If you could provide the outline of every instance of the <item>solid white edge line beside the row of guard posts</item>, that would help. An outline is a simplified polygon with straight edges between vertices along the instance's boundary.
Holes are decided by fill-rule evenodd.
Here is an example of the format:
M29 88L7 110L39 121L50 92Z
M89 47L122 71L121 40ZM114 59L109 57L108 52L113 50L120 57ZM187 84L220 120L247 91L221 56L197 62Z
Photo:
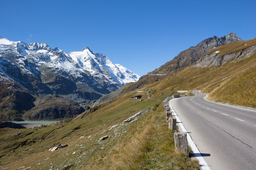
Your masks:
M172 110L172 112L175 113L174 116L175 116L177 122L181 122L179 116L177 116L177 113L174 111L174 109L171 106L171 100L169 100L169 102L168 102L169 103L169 107ZM183 132L186 132L186 133L188 132L185 129L185 127L183 126L182 123L179 123L179 126L180 126L180 128L182 129ZM187 139L188 139L188 144L191 147L192 151L194 153L199 153L199 156L196 156L196 159L199 160L199 164L201 165L201 169L202 170L210 170L210 167L208 166L207 162L205 162L205 160L204 160L203 156L201 155L199 149L196 147L195 143L193 142L191 136L188 133L187 133Z

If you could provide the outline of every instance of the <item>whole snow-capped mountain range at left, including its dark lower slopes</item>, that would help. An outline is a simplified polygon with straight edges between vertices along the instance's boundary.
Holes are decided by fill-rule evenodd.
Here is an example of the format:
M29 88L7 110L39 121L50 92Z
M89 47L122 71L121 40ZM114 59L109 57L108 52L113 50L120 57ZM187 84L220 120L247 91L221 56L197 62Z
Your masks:
M67 54L44 43L0 37L1 113L24 113L35 106L35 100L47 95L86 104L138 78L88 46Z

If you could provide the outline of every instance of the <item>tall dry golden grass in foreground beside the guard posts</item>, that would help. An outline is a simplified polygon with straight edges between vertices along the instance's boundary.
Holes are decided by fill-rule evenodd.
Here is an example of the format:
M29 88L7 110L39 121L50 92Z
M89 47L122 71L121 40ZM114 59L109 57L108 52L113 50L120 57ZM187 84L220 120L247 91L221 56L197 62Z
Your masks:
M146 114L146 113L145 113ZM177 154L174 132L164 120L163 105L135 121L134 129L89 169L198 169L197 161Z

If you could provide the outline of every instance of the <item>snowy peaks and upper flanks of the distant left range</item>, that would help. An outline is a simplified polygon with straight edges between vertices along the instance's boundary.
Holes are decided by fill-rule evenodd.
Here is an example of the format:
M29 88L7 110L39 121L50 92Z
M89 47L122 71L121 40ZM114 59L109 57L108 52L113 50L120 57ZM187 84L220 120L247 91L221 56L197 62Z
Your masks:
M66 79L79 82L88 82L85 79L88 79L89 76L93 79L89 81L89 86L105 88L109 92L139 79L139 75L133 73L133 71L121 65L115 65L104 54L95 54L88 46L80 52L67 54L59 48L52 49L45 43L27 44L22 41L9 41L1 37L0 59L7 59L9 55L6 54L10 52L13 53L13 56L17 56L13 57L11 61L17 64L16 66L24 73L45 76L46 73L44 72L47 70L59 70L54 74L60 74ZM52 76L51 74L49 76ZM48 81L47 77L44 77L44 79Z

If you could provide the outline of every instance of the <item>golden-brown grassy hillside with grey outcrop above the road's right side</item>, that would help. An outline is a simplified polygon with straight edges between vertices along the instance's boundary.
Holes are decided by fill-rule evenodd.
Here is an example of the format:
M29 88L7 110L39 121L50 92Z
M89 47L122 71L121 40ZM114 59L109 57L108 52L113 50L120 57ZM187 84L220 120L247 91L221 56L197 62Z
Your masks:
M223 51L224 56L220 56ZM256 108L255 68L256 39L233 42L217 47L186 69L141 89L157 90L150 93L152 97L177 90L201 90L210 100Z

